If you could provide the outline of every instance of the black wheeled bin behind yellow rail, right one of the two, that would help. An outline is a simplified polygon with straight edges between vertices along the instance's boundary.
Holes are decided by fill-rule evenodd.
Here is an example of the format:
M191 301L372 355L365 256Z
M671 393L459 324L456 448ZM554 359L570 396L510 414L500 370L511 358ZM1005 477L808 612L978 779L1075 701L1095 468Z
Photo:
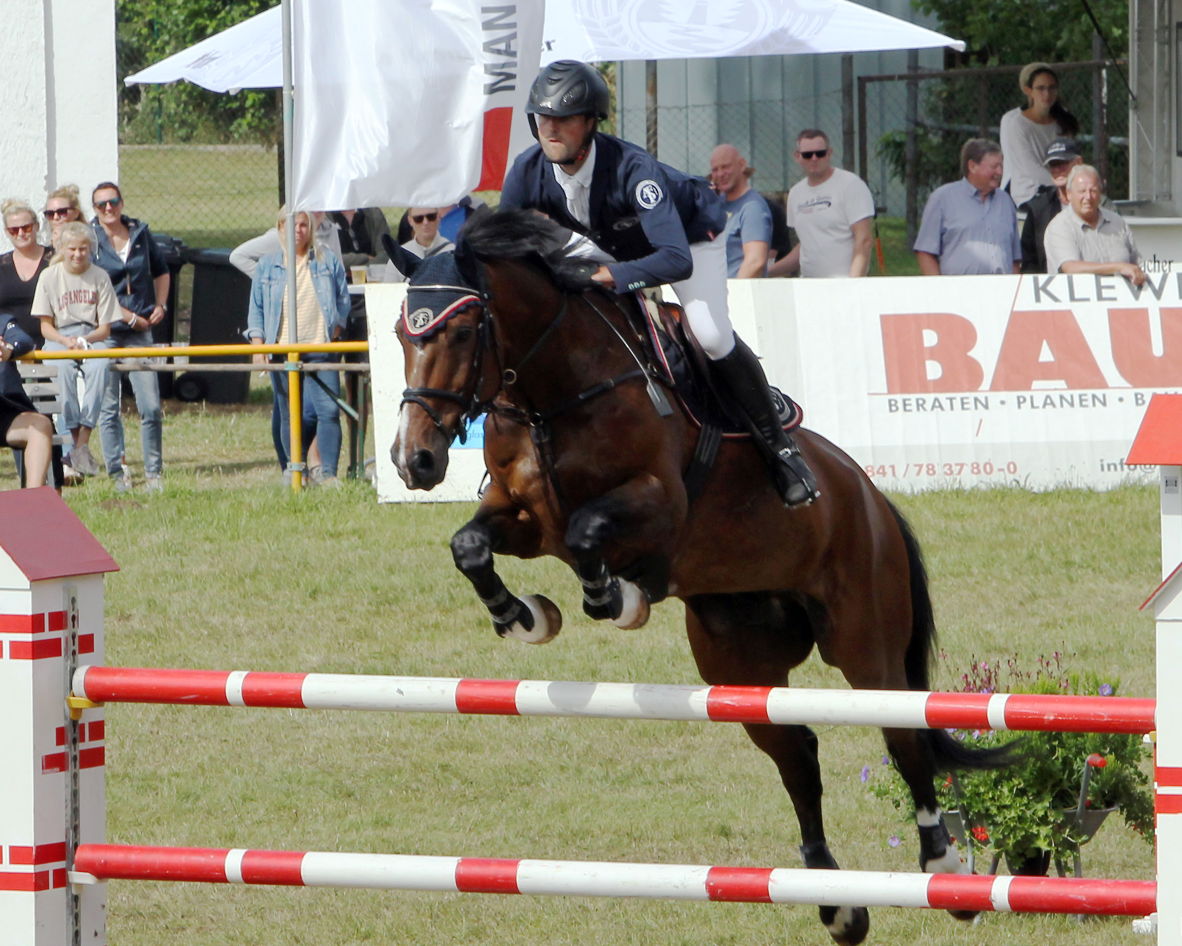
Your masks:
M189 322L190 345L245 344L246 311L251 302L251 278L229 261L229 250L187 250L193 264L193 311ZM189 358L189 364L249 362L245 355ZM174 393L182 401L209 401L214 404L241 404L251 389L249 371L186 371L178 375Z

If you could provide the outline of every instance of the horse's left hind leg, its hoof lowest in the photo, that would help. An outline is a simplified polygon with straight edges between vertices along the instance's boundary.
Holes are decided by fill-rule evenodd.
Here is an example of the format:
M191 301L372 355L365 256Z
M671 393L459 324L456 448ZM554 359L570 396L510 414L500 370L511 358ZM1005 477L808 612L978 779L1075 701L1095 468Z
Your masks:
M812 649L808 616L784 595L702 595L690 598L686 627L702 679L708 683L787 686L788 670ZM837 870L821 817L817 736L807 726L745 725L751 740L780 773L800 824L805 867ZM842 946L866 938L865 907L819 908L820 921Z

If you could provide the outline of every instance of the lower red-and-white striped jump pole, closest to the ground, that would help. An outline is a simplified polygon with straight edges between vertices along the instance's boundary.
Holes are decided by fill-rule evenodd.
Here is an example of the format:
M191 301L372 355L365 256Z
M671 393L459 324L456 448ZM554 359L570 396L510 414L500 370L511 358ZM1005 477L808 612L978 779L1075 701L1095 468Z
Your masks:
M1152 881L83 844L76 880L1142 916ZM84 876L89 875L89 876Z

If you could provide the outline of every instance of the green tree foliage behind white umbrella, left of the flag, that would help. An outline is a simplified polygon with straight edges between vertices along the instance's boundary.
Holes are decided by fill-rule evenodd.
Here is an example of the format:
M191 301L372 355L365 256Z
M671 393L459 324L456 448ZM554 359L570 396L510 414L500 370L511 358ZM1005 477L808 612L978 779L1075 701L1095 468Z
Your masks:
M125 76L274 5L275 0L117 0L121 141L274 144L279 108L271 89L220 95L187 82L123 85Z

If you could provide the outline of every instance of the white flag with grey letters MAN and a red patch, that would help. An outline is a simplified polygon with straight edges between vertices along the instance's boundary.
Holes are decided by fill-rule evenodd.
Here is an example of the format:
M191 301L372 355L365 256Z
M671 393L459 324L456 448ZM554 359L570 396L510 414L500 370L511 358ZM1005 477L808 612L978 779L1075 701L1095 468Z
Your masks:
M436 207L499 186L541 19L541 0L297 0L296 207Z

